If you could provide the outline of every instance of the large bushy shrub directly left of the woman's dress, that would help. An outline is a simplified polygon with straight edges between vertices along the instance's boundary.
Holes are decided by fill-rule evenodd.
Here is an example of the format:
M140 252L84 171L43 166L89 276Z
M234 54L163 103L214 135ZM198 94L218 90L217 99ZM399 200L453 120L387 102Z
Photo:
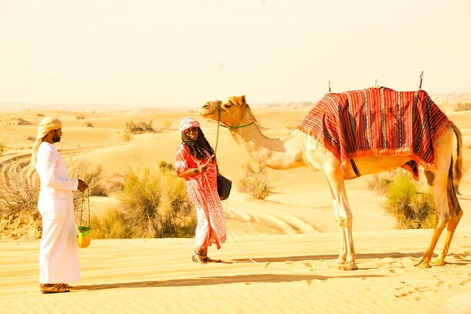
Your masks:
M175 171L163 167L127 173L118 198L132 237L193 237L196 215Z

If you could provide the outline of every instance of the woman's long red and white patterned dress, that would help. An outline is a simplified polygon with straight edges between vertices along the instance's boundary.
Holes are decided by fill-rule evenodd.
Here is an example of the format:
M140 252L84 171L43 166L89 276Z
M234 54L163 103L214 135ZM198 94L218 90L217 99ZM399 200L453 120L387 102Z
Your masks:
M206 161L190 155L188 147L184 144L177 150L175 168L179 173L205 163ZM226 241L226 218L218 195L217 175L216 164L210 161L205 172L184 178L188 198L196 207L198 217L195 234L197 247L206 248L215 243L220 249Z

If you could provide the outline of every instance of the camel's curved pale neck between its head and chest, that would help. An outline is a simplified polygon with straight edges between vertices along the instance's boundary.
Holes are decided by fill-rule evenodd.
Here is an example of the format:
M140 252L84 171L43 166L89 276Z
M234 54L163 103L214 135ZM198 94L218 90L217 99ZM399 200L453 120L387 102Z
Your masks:
M232 137L261 165L273 169L289 169L304 165L302 142L306 137L302 137L301 133L294 131L278 139L265 137L249 107L246 108L240 125L246 126L230 128Z

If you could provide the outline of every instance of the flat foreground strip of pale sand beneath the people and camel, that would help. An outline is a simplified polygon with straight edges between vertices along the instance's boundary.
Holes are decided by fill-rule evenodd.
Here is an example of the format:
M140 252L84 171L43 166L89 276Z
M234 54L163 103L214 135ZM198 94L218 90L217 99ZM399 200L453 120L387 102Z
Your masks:
M354 272L332 264L337 232L229 237L210 249L224 263L208 265L191 262L192 239L92 240L82 280L61 295L39 293L38 241L6 241L0 303L2 313L470 313L471 227L458 227L445 266L415 268L431 232L356 232Z

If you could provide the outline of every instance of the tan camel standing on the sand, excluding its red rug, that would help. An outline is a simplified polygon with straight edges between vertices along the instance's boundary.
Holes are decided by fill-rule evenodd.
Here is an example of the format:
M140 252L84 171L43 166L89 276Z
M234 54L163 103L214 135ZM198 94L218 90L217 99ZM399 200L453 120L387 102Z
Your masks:
M326 96L329 95L331 94ZM317 106L319 104L315 107ZM360 154L352 158L353 162L342 164L339 156L332 153L320 137L316 134L307 134L300 128L283 137L270 139L261 132L260 125L246 103L245 96L230 96L226 101L208 101L199 110L199 115L202 118L218 121L220 125L227 127L237 144L261 165L278 170L306 166L310 170L324 172L332 194L335 220L339 227L341 246L339 257L334 262L339 264L340 270L358 268L352 237L353 216L348 205L344 180L354 179L358 175L394 170L417 159L413 153L401 154L399 152L391 156L361 156ZM432 239L422 260L416 265L420 268L445 264L444 260L451 239L463 215L456 196L462 176L462 139L458 127L448 118L446 120L448 124L432 143L433 162L420 167L427 178L427 183L432 186L436 208ZM455 182L453 182L453 132L457 139ZM432 260L435 246L445 227L447 230L443 249L439 256Z

